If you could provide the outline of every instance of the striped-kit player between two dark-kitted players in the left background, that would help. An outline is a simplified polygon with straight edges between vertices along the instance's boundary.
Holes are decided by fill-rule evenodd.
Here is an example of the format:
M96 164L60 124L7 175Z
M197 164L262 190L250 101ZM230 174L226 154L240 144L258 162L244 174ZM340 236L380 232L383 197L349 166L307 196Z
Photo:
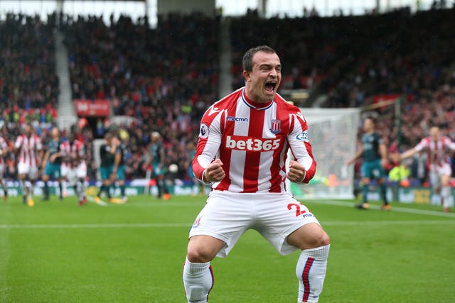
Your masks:
M87 177L87 165L85 164L84 143L75 139L72 131L68 136L68 141L60 144L60 154L62 157L62 177L70 186L73 186L79 200L79 205L87 204L85 196L85 177Z

